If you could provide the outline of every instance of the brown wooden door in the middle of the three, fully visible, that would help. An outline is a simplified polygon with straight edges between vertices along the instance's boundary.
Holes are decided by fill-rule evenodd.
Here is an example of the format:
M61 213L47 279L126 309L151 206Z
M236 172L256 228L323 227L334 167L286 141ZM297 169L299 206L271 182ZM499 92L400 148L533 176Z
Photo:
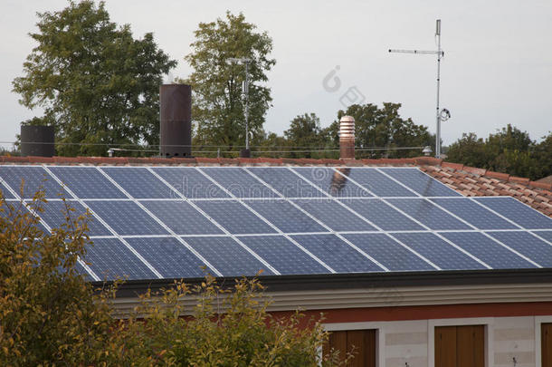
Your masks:
M435 327L435 367L484 367L485 326Z

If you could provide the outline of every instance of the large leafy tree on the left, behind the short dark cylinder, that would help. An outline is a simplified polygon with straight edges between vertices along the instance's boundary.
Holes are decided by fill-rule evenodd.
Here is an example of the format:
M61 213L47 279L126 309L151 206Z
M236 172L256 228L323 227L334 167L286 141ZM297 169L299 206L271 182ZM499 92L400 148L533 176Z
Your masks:
M110 22L104 3L92 0L37 15L39 31L30 36L38 45L13 85L25 107L44 114L24 123L53 125L60 155L157 144L159 84L176 61L153 34L134 39L128 24Z

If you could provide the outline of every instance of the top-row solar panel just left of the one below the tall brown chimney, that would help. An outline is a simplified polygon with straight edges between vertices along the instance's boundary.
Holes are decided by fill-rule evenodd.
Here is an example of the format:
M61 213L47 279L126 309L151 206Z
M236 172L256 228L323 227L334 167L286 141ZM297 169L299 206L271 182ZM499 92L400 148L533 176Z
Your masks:
M134 198L179 198L178 194L144 167L102 168Z

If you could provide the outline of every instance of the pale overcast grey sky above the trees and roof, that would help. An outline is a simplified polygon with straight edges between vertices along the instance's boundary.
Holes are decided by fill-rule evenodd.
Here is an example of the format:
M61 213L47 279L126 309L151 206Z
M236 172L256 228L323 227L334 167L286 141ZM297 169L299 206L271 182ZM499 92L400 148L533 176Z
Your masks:
M18 103L12 81L34 43L36 12L61 10L64 0L0 3L0 141L15 140L21 121L40 116ZM153 32L158 46L184 61L200 22L243 12L273 40L277 63L268 72L273 106L265 130L282 133L299 114L320 125L354 102L400 102L402 117L435 130L437 62L434 55L388 53L389 48L435 50L435 20L442 19L441 107L444 145L475 132L486 137L506 124L539 140L552 130L552 2L490 1L146 1L108 0L117 24L135 37Z

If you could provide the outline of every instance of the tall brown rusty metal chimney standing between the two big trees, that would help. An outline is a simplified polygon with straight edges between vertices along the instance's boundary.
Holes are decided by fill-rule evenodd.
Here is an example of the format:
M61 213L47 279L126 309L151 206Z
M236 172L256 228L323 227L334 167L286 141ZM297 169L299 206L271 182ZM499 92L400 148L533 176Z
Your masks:
M163 157L192 156L192 87L163 84L159 87L160 153Z

